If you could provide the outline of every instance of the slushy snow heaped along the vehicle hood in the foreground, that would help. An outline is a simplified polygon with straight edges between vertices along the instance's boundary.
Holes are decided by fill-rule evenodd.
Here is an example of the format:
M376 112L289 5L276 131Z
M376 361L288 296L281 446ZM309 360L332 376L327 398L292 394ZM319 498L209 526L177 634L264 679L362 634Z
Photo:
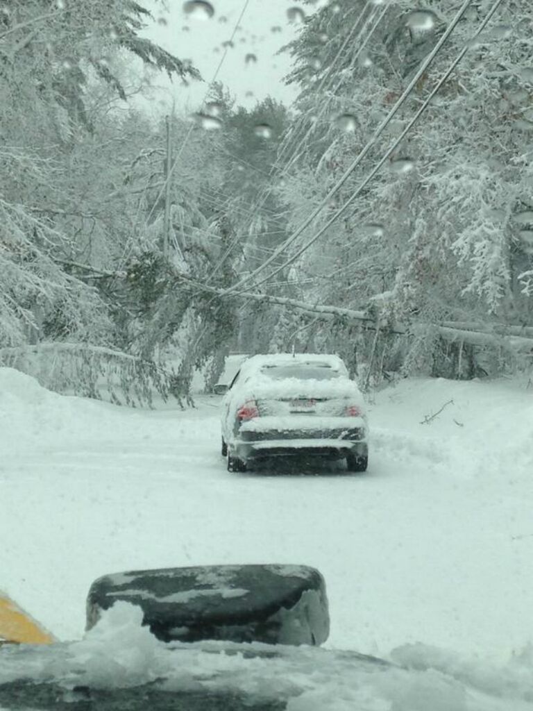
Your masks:
M288 711L533 710L531 651L503 668L421 645L394 663L355 652L222 642L162 643L120 602L75 643L0 650L0 684L25 678L66 688L159 683L168 693L245 693Z

